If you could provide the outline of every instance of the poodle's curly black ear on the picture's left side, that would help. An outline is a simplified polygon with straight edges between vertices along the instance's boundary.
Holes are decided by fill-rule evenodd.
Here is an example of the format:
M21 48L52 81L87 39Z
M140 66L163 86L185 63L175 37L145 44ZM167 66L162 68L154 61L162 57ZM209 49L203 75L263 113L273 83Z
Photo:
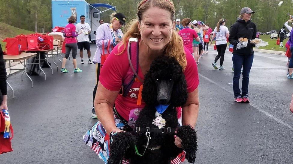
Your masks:
M146 104L156 105L157 102L157 86L151 72L146 73L143 82L142 98Z

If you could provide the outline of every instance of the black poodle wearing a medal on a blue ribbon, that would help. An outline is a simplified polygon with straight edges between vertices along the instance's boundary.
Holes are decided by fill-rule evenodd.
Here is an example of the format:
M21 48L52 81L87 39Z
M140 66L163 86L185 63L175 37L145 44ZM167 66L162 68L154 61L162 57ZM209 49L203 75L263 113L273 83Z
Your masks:
M119 164L122 158L129 159L131 164L170 164L183 150L188 162L194 163L196 131L190 125L178 128L176 111L176 107L186 103L187 96L186 80L179 63L166 56L157 57L144 78L142 98L146 106L140 111L136 128L112 137L108 164ZM169 106L160 115L156 108L165 105ZM175 131L183 149L174 144Z

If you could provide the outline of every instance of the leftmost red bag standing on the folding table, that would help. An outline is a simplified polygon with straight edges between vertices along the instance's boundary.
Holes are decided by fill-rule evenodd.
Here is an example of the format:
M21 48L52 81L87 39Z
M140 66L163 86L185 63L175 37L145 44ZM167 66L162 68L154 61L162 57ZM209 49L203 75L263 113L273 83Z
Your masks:
M17 38L6 38L3 42L6 42L5 49L7 55L19 55L21 45L18 42Z

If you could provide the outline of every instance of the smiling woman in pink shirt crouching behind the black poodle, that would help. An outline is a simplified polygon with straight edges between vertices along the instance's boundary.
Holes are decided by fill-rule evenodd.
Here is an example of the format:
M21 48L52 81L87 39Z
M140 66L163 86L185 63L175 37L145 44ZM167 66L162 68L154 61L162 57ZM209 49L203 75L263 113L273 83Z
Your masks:
M178 123L181 125L181 112L182 124L190 125L192 128L195 127L198 117L198 70L192 54L183 47L181 37L174 30L173 2L143 0L138 5L137 18L126 25L127 32L122 42L114 47L101 69L94 103L99 121L83 137L105 163L109 158L111 137L118 132L132 131L135 128L136 120L131 116L134 115L134 111L145 107L145 102L141 99L143 79L156 57L167 56L175 59L182 67L189 93L186 104L182 108L177 108ZM133 71L128 62L127 47L130 38L137 38L138 41L132 42L129 49L131 56L135 54L137 57L136 60L131 60L136 62L133 66L137 68L138 77L132 76ZM127 90L121 90L126 86L125 79L128 76L133 77L130 77L132 81L128 83ZM101 137L96 134L100 134ZM180 148L180 138L174 136L173 139L174 144ZM174 160L172 163L184 161L184 153Z

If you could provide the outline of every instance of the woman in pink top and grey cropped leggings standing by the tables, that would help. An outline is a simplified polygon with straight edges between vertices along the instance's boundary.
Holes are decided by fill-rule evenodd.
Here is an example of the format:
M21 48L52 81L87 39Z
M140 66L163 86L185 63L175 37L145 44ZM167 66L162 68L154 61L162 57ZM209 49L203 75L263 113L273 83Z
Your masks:
M63 35L65 35L65 48L66 48L66 53L62 61L62 68L61 72L67 73L68 70L65 68L66 61L69 57L70 51L72 51L72 62L74 66L73 72L82 72L81 69L77 68L76 65L76 54L77 54L77 40L75 37L77 37L79 34L82 33L80 31L79 33L76 33L74 23L76 22L76 18L74 16L70 16L68 19L68 24L65 26Z

